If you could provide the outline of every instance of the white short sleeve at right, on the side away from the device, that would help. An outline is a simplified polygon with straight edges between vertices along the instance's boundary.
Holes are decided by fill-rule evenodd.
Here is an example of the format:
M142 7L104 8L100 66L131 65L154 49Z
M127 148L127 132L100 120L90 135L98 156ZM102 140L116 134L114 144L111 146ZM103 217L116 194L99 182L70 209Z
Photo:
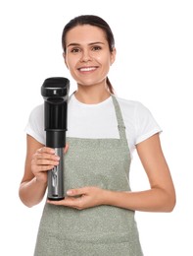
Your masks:
M138 102L135 111L135 145L150 138L156 133L161 133L162 129L153 117L150 110L142 103Z

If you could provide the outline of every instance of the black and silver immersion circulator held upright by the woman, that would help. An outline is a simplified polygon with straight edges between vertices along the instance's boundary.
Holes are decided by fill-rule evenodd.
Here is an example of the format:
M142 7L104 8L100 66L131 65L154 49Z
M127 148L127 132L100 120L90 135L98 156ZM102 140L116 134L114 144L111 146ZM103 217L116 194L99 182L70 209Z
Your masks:
M44 98L44 128L46 147L55 149L60 157L59 165L48 171L48 199L65 198L64 188L64 147L66 146L67 110L70 81L53 77L44 81L41 95Z

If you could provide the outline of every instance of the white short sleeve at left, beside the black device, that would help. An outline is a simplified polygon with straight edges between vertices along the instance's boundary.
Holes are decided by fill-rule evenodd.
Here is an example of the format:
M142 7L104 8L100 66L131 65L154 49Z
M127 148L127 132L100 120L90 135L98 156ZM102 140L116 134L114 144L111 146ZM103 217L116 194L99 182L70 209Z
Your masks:
M24 131L39 143L45 145L43 104L36 106L30 112Z

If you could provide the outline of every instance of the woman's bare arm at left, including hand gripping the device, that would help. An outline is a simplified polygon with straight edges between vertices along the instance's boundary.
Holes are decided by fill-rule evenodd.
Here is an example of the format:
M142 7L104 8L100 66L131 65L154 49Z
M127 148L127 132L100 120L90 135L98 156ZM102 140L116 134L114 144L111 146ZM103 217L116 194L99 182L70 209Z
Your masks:
M47 170L58 162L54 150L44 147L31 136L26 136L24 177L19 189L24 205L32 207L41 202L47 188Z

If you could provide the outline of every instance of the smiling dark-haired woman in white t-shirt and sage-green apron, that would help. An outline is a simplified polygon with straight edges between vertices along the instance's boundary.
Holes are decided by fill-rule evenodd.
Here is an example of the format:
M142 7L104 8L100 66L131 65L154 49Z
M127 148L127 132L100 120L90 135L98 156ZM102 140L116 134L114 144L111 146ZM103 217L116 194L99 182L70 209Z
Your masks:
M47 201L34 255L143 255L135 211L171 212L175 192L162 152L160 127L140 102L114 95L108 72L116 59L114 35L97 16L79 16L64 29L65 63L77 83L69 100L65 149L66 198ZM44 197L47 171L59 164L44 147L43 105L30 114L20 197L32 207ZM150 189L131 192L136 149ZM81 211L79 211L81 210Z

